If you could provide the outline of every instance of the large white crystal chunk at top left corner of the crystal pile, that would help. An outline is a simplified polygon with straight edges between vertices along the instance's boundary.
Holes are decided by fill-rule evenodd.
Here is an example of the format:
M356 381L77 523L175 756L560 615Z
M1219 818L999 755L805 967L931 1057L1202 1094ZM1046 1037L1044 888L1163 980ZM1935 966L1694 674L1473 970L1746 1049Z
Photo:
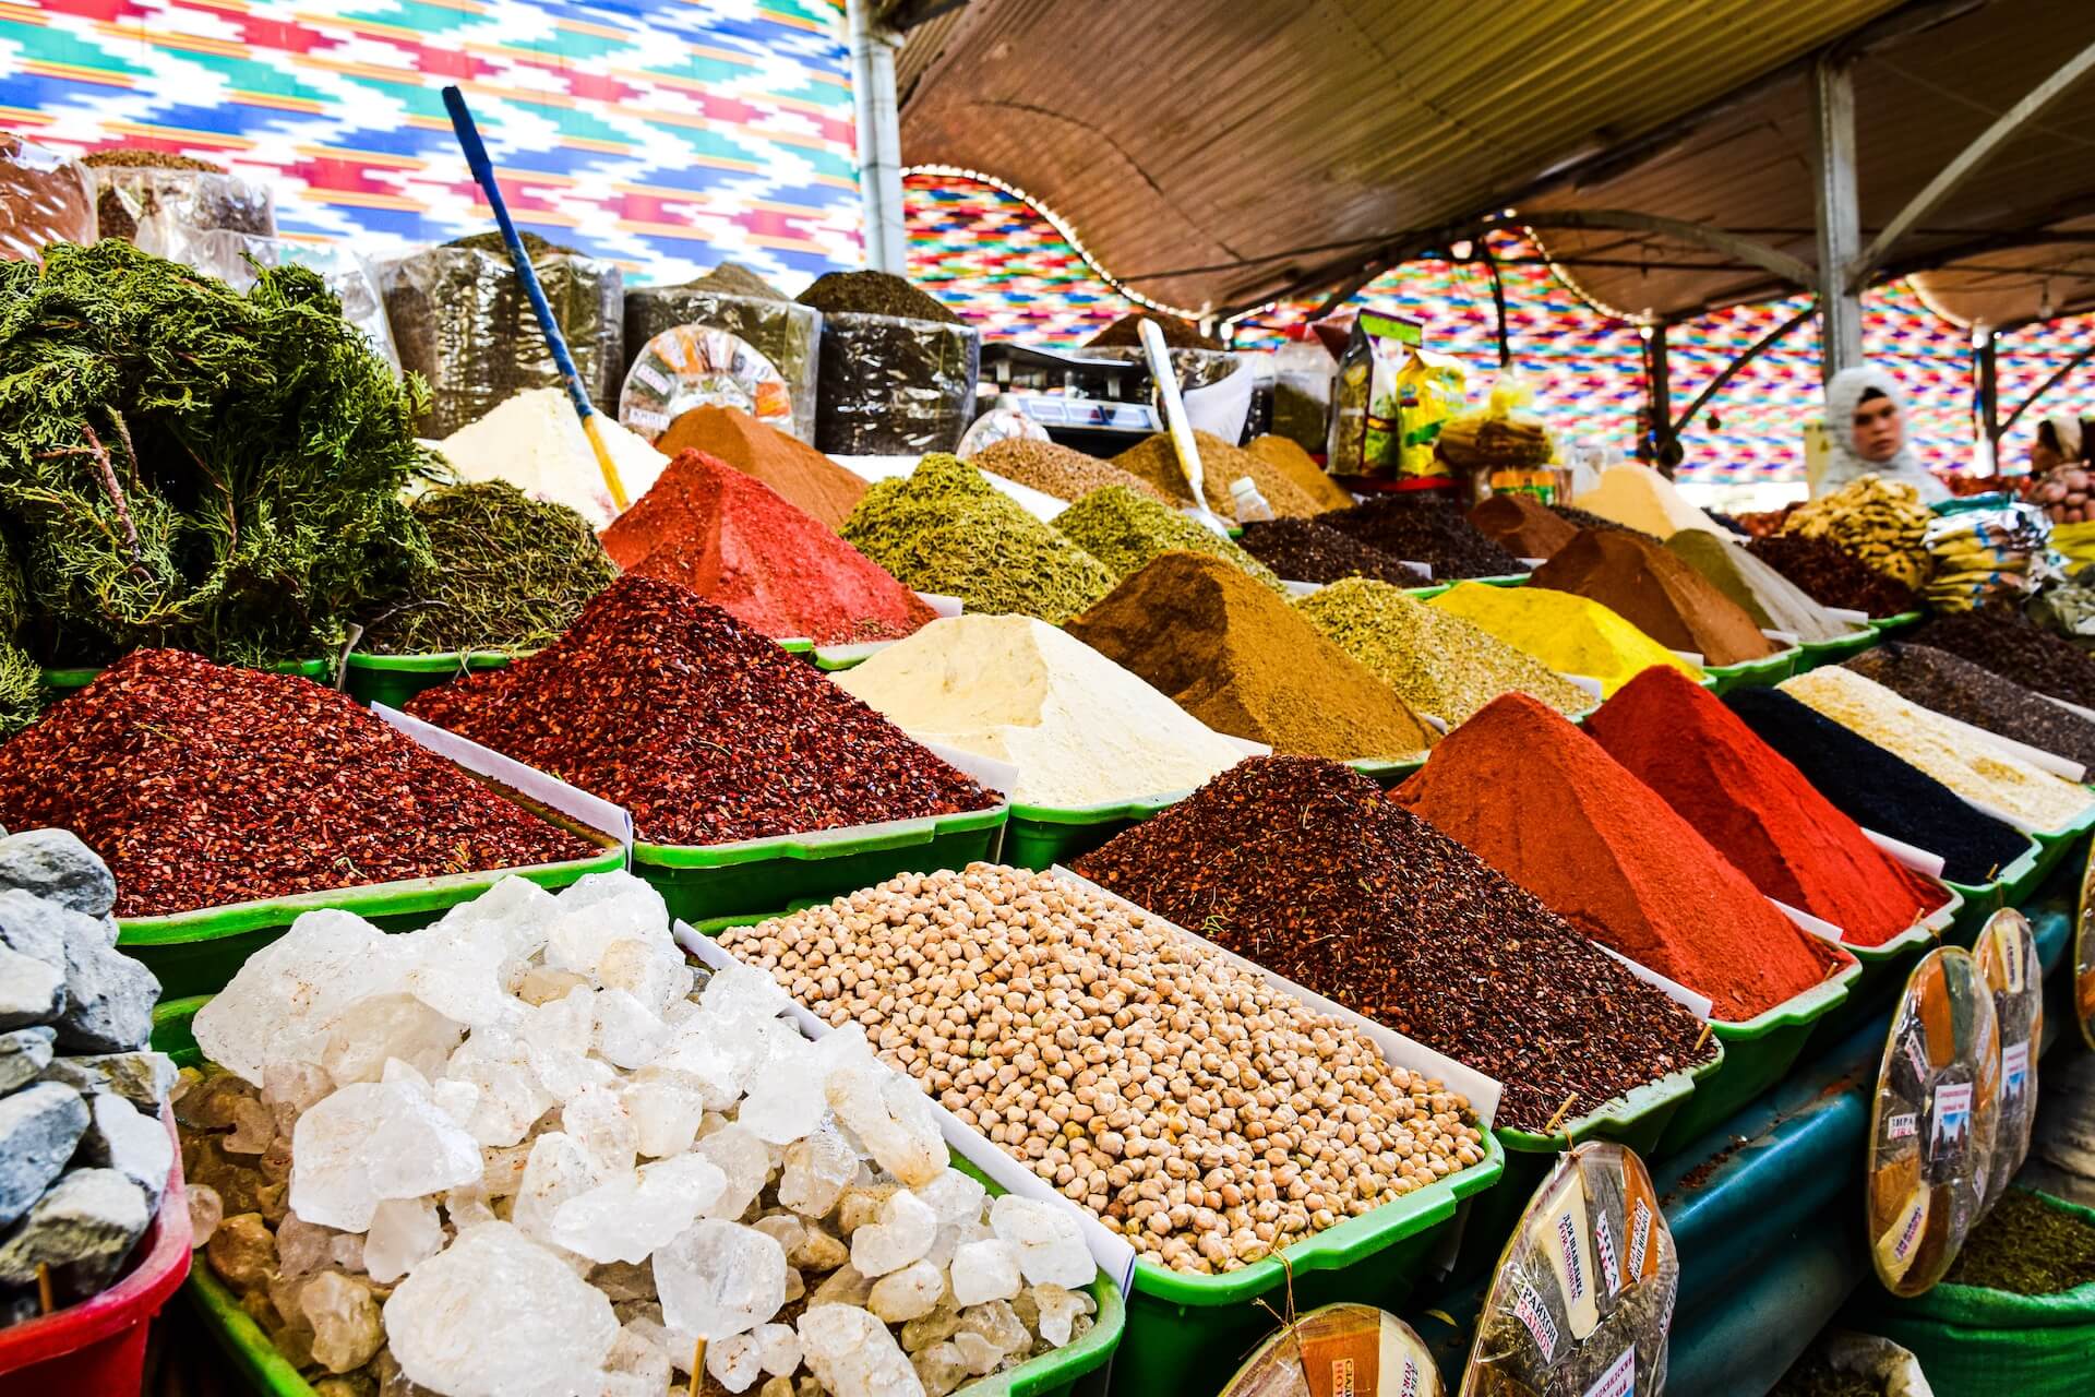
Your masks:
M406 976L392 943L358 915L304 913L197 1010L197 1047L247 1081L262 1081L272 1062L318 1062L335 1014Z

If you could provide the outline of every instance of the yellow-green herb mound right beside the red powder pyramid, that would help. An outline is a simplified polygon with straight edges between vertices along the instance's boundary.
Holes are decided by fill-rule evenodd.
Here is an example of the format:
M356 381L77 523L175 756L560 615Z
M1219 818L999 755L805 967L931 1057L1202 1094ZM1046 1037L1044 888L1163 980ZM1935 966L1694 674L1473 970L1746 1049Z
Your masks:
M1115 580L1102 561L945 452L872 486L842 534L903 586L960 597L970 612L1062 624Z

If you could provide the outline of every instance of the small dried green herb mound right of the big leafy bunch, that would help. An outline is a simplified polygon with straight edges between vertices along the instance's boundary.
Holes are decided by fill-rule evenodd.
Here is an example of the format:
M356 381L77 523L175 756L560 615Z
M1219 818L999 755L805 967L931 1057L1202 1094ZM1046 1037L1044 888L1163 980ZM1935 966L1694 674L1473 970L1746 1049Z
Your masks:
M582 515L505 482L429 490L415 517L436 572L365 622L360 647L379 656L538 649L618 576Z

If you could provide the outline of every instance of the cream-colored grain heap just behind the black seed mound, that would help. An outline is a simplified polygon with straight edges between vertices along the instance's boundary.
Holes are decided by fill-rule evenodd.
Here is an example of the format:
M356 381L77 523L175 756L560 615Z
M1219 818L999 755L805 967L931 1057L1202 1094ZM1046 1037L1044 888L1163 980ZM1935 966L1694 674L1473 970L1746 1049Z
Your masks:
M1919 767L1965 800L2007 811L2036 829L2057 829L2095 804L2085 785L1984 748L1942 714L1837 664L1785 679L1781 691Z

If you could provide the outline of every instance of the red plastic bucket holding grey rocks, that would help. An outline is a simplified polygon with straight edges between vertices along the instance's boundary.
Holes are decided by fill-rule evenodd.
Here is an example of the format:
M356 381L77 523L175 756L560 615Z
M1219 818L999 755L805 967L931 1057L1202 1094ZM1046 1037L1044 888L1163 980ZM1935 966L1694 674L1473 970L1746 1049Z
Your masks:
M161 1121L174 1135L174 1116L161 1110ZM189 1276L180 1148L138 1250L130 1276L94 1299L0 1330L0 1397L136 1397L147 1328Z

